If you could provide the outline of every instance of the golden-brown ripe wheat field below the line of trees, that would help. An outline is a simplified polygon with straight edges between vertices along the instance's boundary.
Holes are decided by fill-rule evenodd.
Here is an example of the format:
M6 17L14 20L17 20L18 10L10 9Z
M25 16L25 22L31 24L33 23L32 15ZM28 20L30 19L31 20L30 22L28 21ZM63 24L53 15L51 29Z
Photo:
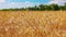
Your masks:
M0 11L0 37L66 37L66 11Z

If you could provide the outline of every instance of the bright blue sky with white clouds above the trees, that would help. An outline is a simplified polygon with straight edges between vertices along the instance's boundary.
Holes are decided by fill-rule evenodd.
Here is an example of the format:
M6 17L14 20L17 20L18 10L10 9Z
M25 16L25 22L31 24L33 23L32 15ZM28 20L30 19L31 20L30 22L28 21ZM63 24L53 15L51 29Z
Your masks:
M0 9L28 8L38 4L64 4L66 0L0 0Z

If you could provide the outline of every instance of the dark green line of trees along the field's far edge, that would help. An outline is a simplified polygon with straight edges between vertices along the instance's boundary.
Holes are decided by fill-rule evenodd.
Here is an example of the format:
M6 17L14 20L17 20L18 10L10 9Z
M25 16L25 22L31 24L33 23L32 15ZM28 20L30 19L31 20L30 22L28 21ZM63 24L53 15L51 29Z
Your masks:
M21 9L2 9L1 11L65 11L66 10L66 3L64 5L58 4L40 4L35 7L29 7L29 8L21 8Z

